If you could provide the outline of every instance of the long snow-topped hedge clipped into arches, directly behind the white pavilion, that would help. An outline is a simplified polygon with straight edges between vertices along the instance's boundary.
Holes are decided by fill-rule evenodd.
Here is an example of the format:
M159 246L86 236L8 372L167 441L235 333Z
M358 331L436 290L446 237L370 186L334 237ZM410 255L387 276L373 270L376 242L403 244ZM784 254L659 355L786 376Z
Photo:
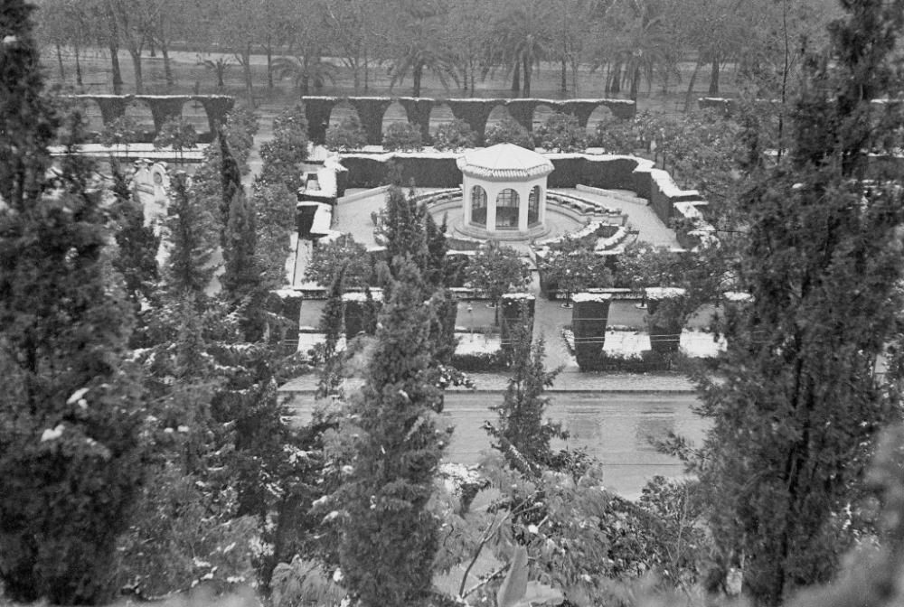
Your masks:
M593 111L605 106L613 116L630 119L637 112L636 103L626 99L431 99L413 97L313 97L305 96L301 100L305 104L308 124L308 137L311 141L322 144L325 141L326 128L329 126L333 108L343 104L350 105L361 118L361 124L367 132L367 143L380 145L382 139L383 117L386 109L394 101L405 108L410 123L420 127L420 133L427 141L429 138L430 112L434 107L446 105L453 116L464 120L481 138L486 131L486 120L497 106L502 106L511 117L518 121L528 133L533 132L533 115L537 107L551 107L554 112L573 114L578 118L581 128L587 128L587 122Z

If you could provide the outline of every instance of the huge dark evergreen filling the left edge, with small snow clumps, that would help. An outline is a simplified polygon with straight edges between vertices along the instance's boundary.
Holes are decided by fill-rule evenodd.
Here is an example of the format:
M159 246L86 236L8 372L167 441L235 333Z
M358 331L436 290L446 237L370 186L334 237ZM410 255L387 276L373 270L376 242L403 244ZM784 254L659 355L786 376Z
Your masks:
M145 398L108 210L82 163L45 178L56 118L30 11L0 6L0 580L14 601L91 604L111 597L143 481Z

